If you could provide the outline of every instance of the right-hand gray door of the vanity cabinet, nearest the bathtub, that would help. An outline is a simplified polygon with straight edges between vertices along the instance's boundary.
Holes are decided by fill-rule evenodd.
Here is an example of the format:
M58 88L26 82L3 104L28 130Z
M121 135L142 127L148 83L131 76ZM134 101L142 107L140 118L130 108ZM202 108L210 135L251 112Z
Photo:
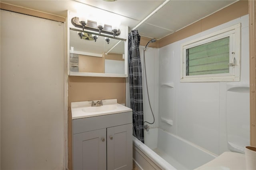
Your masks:
M108 170L132 170L132 124L107 128Z

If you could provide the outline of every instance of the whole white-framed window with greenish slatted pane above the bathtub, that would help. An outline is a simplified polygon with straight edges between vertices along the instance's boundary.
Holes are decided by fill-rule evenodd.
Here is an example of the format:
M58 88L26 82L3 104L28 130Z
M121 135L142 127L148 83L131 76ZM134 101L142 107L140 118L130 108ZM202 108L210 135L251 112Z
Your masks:
M180 82L240 80L240 24L182 44Z

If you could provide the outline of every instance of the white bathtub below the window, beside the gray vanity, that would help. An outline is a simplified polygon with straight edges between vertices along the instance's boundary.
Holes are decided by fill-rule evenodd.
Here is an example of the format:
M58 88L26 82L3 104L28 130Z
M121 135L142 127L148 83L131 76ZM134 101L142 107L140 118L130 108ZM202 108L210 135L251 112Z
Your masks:
M133 136L134 162L142 170L192 170L217 156L159 128L144 135L145 144Z

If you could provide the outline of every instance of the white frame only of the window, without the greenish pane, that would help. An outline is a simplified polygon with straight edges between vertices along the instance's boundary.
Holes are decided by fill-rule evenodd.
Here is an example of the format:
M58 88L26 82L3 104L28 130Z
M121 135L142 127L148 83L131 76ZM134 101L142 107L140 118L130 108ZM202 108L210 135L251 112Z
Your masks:
M240 31L241 24L224 28L206 36L188 41L181 45L180 57L180 82L235 82L240 81ZM229 63L235 60L233 66L229 66L229 73L186 75L186 50L195 46L230 37ZM233 52L233 53L232 53Z

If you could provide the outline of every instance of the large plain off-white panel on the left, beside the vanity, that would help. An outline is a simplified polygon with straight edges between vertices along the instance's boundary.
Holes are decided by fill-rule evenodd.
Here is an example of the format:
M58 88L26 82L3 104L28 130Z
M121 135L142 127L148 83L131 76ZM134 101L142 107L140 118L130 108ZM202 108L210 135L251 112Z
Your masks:
M64 169L64 24L1 10L1 169Z

